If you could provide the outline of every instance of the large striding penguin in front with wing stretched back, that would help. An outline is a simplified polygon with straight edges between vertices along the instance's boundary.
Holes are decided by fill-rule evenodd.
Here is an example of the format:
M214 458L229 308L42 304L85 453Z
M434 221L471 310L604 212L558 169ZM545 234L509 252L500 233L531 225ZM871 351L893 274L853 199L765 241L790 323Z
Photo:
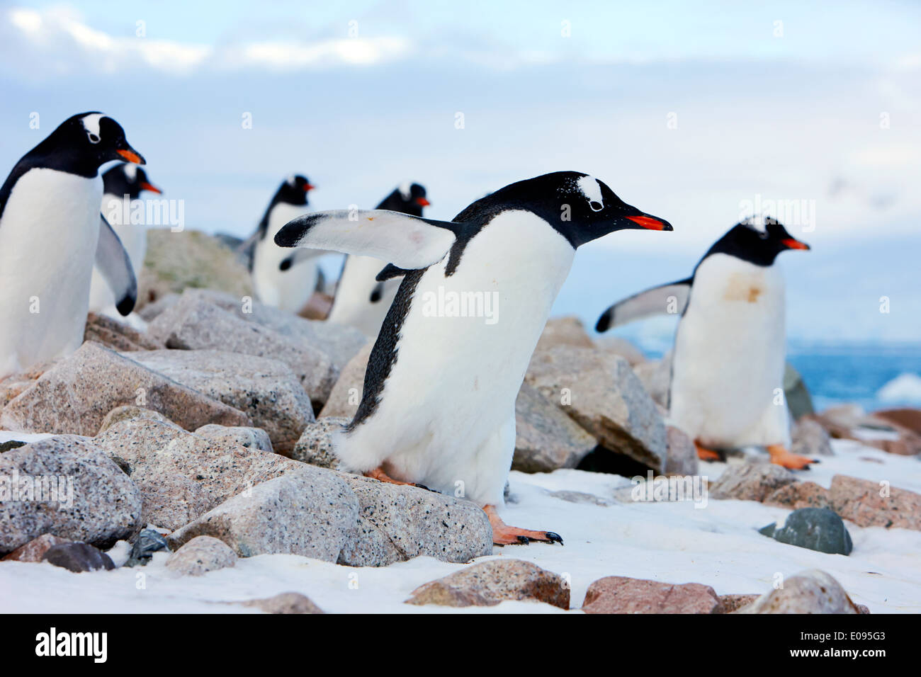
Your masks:
M391 262L379 278L402 275L356 416L335 440L344 469L466 496L484 508L497 544L562 542L496 512L515 399L576 248L623 228L671 230L575 171L507 185L453 221L341 210L282 228L282 247L372 256Z

